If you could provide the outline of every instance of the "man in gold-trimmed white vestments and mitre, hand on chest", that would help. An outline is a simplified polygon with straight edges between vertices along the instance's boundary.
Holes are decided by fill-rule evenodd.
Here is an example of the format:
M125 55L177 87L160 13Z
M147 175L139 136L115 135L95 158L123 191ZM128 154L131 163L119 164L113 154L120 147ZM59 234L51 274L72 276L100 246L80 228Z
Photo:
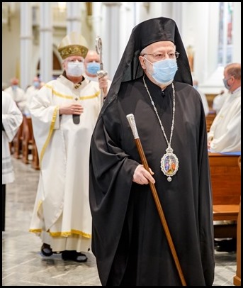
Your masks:
M30 115L40 159L40 181L30 232L40 236L43 255L86 262L91 250L89 147L101 110L97 82L84 79L88 45L67 35L58 50L64 73L33 95Z

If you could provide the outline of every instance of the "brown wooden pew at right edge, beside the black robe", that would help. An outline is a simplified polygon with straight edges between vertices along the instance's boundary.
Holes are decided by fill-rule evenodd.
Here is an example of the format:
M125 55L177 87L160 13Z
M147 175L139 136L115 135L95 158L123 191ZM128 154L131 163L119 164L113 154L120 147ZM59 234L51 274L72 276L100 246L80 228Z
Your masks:
M237 221L241 192L239 155L208 153L213 192L213 220ZM214 225L215 238L235 238L236 225Z

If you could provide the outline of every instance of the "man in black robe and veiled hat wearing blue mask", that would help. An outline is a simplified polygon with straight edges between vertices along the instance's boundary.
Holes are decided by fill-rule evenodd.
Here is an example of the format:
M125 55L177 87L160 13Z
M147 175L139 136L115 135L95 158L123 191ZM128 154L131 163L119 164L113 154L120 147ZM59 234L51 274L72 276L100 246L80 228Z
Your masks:
M129 114L150 170L140 159ZM187 286L213 284L205 113L170 18L149 19L132 30L91 138L89 184L92 251L103 286L185 286L183 278Z

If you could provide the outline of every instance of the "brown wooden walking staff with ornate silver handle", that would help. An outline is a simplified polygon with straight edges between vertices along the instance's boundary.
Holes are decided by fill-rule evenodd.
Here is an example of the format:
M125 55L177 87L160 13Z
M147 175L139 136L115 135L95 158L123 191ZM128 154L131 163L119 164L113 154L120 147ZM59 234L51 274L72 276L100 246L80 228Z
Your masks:
M132 134L133 134L133 136L135 138L135 143L137 145L137 150L138 150L138 152L140 154L140 158L142 160L142 165L150 173L149 165L147 164L147 159L145 157L145 152L142 149L142 144L141 144L140 138L139 138L138 133L137 133L137 127L136 127L134 115L133 114L128 114L127 115L127 119L128 119L128 123L130 124L130 128L132 129ZM154 184L152 182L149 182L149 186L150 186L150 189L152 190L152 194L154 196L154 201L155 201L155 204L157 206L157 210L159 212L159 218L162 221L162 226L164 228L164 233L165 233L166 238L167 238L168 243L169 243L169 248L171 249L171 253L173 255L174 262L176 264L176 268L177 268L177 270L179 272L179 277L181 279L181 284L182 284L182 286L186 286L186 281L185 281L185 278L183 276L183 272L181 270L180 262L178 260L177 255L176 255L176 250L174 248L174 243L172 241L171 234L169 232L169 228L168 228L168 225L166 223L166 218L164 216L164 211L162 210L162 206L161 206L160 201L159 201L159 196L157 194L157 190L156 190L156 188L155 188L155 186L154 186Z

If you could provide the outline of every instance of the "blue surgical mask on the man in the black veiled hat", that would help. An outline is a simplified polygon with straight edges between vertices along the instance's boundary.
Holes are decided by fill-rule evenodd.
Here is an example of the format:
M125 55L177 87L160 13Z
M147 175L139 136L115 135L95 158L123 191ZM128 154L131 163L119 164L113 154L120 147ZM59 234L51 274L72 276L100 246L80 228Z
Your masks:
M146 59L146 58L145 58ZM147 59L146 59L147 60ZM159 84L171 84L178 70L176 59L166 59L157 62L150 62L153 65L151 76Z

